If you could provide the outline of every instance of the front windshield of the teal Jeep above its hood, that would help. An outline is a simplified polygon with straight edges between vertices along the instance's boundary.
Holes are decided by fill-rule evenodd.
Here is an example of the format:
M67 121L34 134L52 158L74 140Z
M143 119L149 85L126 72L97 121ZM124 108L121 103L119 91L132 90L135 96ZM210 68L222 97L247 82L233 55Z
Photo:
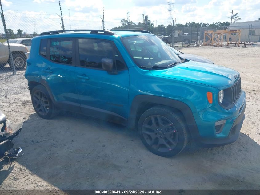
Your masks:
M131 36L122 38L122 42L138 67L167 67L181 62L158 36Z

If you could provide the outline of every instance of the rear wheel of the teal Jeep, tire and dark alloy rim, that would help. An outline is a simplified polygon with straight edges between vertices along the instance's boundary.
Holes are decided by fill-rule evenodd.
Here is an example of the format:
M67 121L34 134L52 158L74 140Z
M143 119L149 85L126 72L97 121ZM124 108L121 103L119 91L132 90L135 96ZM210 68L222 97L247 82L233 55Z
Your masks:
M53 104L46 88L36 85L31 93L32 104L35 112L43 119L51 119L57 115L57 108Z

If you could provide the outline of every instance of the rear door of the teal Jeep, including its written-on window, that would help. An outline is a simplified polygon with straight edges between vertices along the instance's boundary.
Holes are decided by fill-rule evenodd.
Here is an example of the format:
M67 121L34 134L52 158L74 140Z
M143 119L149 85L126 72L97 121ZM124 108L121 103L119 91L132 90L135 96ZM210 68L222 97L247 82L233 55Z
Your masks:
M43 57L41 79L44 79L43 83L60 107L79 112L73 49L75 39L58 38L42 39L41 41L40 48L43 51L40 53ZM44 52L44 48L47 48L46 52Z

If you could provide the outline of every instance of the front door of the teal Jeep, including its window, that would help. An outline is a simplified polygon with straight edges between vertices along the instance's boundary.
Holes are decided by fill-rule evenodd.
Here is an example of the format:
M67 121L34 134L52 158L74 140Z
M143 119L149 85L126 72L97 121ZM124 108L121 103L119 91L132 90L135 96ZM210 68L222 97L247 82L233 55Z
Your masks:
M114 43L78 39L75 81L81 110L87 115L121 123L128 113L129 74ZM114 61L114 72L102 68L102 58Z

